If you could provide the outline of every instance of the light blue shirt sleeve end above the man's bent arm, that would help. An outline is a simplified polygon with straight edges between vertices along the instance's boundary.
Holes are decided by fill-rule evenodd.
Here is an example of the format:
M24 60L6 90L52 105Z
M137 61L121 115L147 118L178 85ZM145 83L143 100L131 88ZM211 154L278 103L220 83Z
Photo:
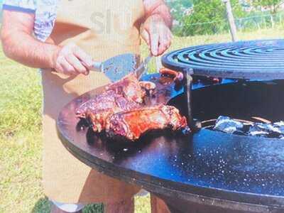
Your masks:
M36 0L4 0L3 10L35 13Z

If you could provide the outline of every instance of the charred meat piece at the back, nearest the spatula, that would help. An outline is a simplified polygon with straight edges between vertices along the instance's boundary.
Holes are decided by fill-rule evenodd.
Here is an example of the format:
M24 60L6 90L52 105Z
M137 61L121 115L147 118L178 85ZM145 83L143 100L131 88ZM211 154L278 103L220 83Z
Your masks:
M145 94L135 75L128 75L107 87L106 92L82 104L75 113L77 117L87 119L94 131L101 132L112 114L140 108Z

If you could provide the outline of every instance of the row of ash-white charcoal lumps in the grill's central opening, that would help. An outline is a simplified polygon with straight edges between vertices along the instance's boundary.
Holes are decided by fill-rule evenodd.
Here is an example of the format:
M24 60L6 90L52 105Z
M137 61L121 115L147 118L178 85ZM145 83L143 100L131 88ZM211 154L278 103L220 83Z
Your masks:
M284 139L284 121L273 124L245 123L236 121L228 116L219 116L213 128L216 131L243 136L259 136L266 138Z

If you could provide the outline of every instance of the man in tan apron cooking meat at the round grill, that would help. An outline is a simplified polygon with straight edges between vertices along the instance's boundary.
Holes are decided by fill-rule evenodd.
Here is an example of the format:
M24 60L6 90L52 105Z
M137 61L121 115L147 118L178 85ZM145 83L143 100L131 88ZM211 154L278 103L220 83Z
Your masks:
M6 0L3 9L4 53L41 68L43 187L52 212L76 212L96 202L103 202L106 212L133 212L139 189L75 159L62 146L55 120L67 102L109 82L89 72L92 62L138 54L140 35L153 55L163 54L172 38L168 7L163 0Z

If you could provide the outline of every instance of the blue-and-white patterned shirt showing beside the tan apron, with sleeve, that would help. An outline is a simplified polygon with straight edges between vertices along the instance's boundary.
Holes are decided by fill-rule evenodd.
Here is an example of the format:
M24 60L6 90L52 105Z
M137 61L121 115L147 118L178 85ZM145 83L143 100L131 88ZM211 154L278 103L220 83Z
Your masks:
M45 41L53 31L59 0L4 0L3 9L35 13L34 34Z

